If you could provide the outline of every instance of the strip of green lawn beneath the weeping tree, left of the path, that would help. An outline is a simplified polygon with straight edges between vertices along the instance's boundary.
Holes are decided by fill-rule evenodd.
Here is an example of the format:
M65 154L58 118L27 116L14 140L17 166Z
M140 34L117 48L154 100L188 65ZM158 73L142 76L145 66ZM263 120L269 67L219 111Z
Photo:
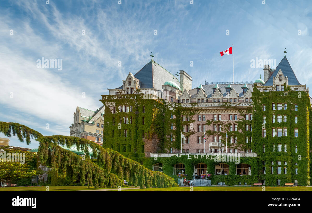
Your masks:
M50 186L50 191L75 191L75 190L92 190L92 189L95 188L93 186L90 188L88 188L88 186ZM0 187L0 191L46 191L46 186Z

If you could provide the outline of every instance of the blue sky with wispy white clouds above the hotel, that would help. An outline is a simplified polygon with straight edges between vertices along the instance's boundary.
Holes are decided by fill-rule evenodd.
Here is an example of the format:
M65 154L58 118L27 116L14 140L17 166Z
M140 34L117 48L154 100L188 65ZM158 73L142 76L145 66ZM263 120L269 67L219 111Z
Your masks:
M286 48L299 82L311 87L311 6L287 0L1 1L0 120L69 135L76 106L99 108L100 95L138 72L150 52L169 72L190 74L194 88L205 79L232 81L232 55L219 53L232 44L235 81L263 76L251 60L278 64ZM63 69L37 68L42 57L62 59ZM38 143L12 137L10 145Z

